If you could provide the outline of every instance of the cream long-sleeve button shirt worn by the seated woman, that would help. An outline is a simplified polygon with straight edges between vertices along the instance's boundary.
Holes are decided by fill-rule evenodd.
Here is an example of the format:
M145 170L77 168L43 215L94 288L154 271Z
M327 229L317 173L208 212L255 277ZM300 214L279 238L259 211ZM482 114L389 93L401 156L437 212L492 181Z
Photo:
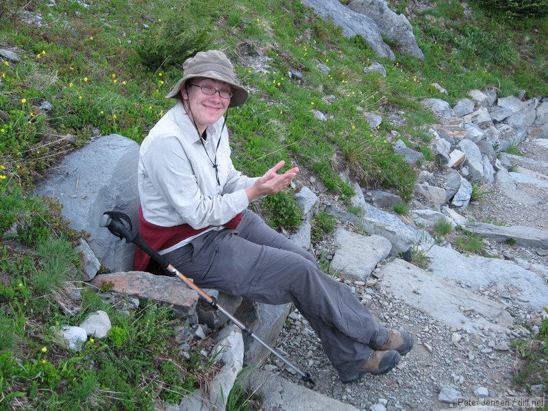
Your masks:
M203 145L207 154L181 101L151 129L142 141L138 163L138 188L145 220L162 227L212 226L207 232L223 229L223 223L249 206L245 188L252 186L258 177L250 178L234 169L226 127L221 133L223 121L221 117L206 129ZM220 185L212 161L218 166ZM182 247L192 238L161 253Z

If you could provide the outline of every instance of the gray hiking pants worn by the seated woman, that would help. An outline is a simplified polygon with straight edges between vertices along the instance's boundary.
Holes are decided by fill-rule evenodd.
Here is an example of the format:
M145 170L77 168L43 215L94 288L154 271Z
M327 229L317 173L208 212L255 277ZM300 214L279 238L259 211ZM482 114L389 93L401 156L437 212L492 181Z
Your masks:
M319 269L314 257L249 210L236 229L207 232L165 258L200 287L260 303L293 303L341 378L388 335L369 310Z

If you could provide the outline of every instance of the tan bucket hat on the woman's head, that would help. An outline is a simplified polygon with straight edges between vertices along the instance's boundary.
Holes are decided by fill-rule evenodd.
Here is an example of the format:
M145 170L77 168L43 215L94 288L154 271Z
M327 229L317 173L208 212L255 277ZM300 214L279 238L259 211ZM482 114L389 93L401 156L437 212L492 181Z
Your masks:
M232 88L232 98L229 107L238 107L247 101L249 93L240 86L234 73L234 68L225 53L219 50L199 51L194 57L187 58L183 63L183 78L166 95L166 99L180 99L181 89L186 80L196 77L206 77L208 79L220 80L230 84Z

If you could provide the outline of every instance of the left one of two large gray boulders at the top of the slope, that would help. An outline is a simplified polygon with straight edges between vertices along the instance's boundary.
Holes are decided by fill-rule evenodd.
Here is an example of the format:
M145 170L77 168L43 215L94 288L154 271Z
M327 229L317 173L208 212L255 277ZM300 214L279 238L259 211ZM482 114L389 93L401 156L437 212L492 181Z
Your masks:
M324 20L332 21L343 29L343 36L354 37L360 34L379 58L395 60L394 52L382 40L379 27L364 14L354 12L338 0L301 0L304 5L314 8Z

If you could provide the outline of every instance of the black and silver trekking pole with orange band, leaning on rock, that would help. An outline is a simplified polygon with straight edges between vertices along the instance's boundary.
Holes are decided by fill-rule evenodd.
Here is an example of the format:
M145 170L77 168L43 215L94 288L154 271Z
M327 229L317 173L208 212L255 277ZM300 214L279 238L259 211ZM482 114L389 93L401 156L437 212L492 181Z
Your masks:
M129 229L124 225L122 221L125 221L129 225ZM199 286L197 286L196 284L194 284L194 282L188 279L188 277L186 277L179 270L175 269L175 267L172 266L169 262L167 262L167 260L164 257L160 256L160 254L154 251L149 245L147 245L146 242L141 240L138 233L133 233L131 231L132 222L129 219L129 216L127 216L127 214L124 214L123 212L118 212L118 211L105 211L103 213L103 216L101 217L101 222L99 223L99 225L101 225L101 227L108 228L109 231L112 234L114 234L114 236L119 238L124 238L126 242L132 242L134 245L142 249L142 251L145 251L145 253L147 253L149 256L151 256L153 260L155 260L155 262L158 262L158 264L160 264L160 266L166 273L168 273L169 275L173 277L178 277L179 279L181 279L184 282L184 284L192 288L192 290L195 290L200 297L208 301L210 306L212 306L215 310L219 310L220 312L225 314L225 316L227 316L227 318L230 321L236 324L238 328L240 328L244 334L254 338L260 345L268 349L277 358L282 360L284 364L286 364L287 366L295 370L297 373L299 373L299 375L301 375L301 379L304 382L310 382L310 384L312 385L315 384L312 378L310 377L310 373L308 372L305 373L301 371L300 369L298 369L297 366L291 364L288 360L286 360L284 356L282 356L282 354L278 353L270 345L266 344L258 336L253 334L253 331L251 330L251 328L247 327L247 325L245 325L244 323L236 319L236 317L234 317L232 314L227 312L227 310L225 310L222 306L219 306L219 304L217 304L217 300L214 297L211 297L210 295L208 295L207 292L204 292L203 290L201 290L201 288L199 288Z

